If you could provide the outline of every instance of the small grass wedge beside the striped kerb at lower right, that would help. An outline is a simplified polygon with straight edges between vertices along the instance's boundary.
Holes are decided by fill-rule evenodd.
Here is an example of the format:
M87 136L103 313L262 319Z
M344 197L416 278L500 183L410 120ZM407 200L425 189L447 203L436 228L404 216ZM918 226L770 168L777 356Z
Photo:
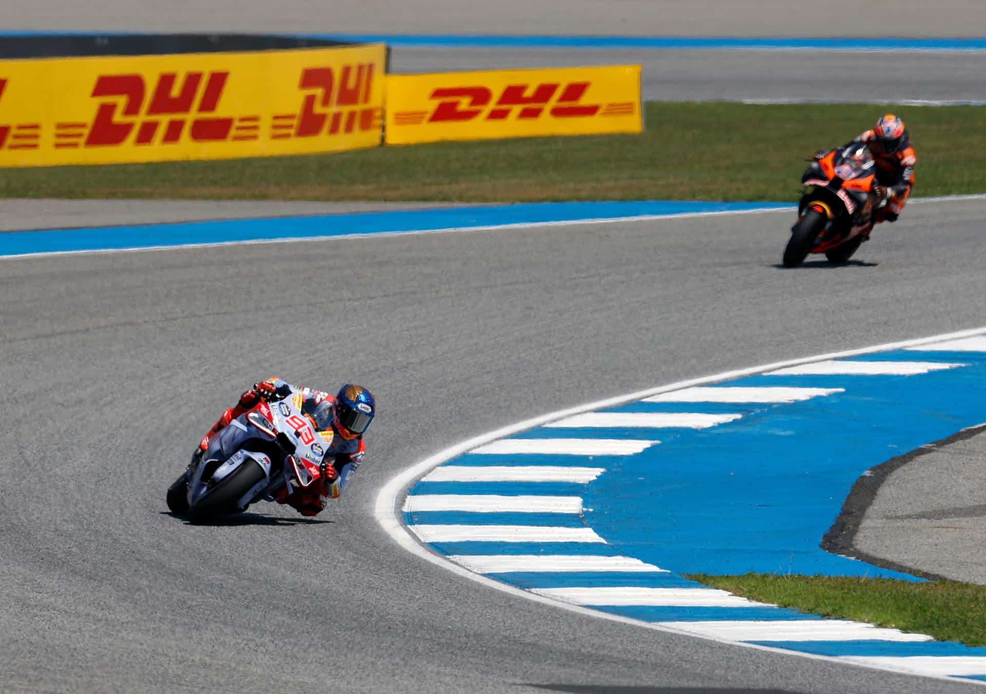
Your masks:
M691 574L687 578L743 598L824 617L929 634L966 646L986 646L986 586L775 574Z

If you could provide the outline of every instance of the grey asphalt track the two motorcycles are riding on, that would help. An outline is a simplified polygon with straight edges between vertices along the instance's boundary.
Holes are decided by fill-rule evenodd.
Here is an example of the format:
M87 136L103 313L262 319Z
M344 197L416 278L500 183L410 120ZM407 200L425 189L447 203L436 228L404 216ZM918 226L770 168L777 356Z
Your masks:
M4 261L0 682L978 691L515 599L400 550L372 512L393 474L533 414L980 325L984 212L912 204L841 268L777 267L790 213ZM171 517L195 442L274 374L376 393L346 496L314 522Z

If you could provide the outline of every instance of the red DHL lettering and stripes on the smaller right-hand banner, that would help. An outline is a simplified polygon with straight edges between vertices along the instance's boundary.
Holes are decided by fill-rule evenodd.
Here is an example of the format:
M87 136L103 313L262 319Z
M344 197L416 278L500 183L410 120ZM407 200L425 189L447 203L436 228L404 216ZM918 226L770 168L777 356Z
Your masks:
M475 119L498 121L516 115L519 120L541 118L592 118L595 116L632 115L634 101L583 103L591 82L540 83L509 85L494 100L488 87L442 87L432 91L430 100L438 101L431 111L398 111L395 125L465 122Z

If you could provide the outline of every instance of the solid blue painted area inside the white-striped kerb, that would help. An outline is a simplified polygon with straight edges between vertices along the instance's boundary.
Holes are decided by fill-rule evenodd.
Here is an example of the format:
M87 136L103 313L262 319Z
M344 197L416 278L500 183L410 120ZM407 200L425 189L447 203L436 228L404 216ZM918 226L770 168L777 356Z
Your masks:
M880 358L928 357L901 351ZM731 381L730 386L845 392L789 405L740 405L733 411L742 417L735 421L701 430L662 430L660 445L627 457L619 474L602 474L594 482L586 497L593 509L587 523L611 543L632 548L634 556L674 571L904 578L829 554L819 541L867 469L986 421L986 355L963 352L947 358L973 363L913 376ZM617 410L654 410L656 405ZM594 435L585 429L564 431L565 436ZM627 478L639 483L628 488Z

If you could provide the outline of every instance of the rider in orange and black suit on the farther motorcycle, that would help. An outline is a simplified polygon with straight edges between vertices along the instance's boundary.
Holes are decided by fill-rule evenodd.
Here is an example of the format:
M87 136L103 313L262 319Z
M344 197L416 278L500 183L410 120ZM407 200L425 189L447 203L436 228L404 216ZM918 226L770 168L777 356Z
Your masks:
M886 206L877 211L874 221L897 221L914 187L917 154L911 146L910 133L904 121L886 113L877 119L872 130L862 133L847 147L858 143L866 145L873 155L877 163L877 181L887 192ZM814 158L822 158L828 152L819 150Z

